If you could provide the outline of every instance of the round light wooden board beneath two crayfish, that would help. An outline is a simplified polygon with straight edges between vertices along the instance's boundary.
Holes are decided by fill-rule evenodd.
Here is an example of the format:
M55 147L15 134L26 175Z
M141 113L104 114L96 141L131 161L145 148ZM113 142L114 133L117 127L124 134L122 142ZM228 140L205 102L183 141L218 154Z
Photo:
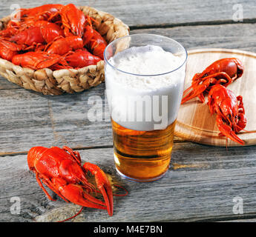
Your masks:
M200 49L188 51L185 89L191 85L191 79L195 73L201 73L217 59L237 58L243 62L244 72L240 79L229 85L229 89L236 96L243 96L243 104L246 111L246 130L255 133L241 132L238 134L245 141L245 145L256 144L256 53L242 50L227 49ZM175 136L195 141L201 144L226 147L226 137L219 136L219 130L215 122L216 115L211 116L206 102L203 104L195 98L180 106ZM228 139L229 147L237 147L240 144Z

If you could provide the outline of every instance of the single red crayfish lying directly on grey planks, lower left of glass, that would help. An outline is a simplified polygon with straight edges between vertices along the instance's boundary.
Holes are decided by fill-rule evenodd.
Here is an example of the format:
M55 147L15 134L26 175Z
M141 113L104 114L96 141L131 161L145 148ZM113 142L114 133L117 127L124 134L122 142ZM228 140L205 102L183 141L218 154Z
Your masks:
M113 193L108 177L96 164L86 162L82 165L79 152L69 147L32 147L27 154L27 164L36 173L36 181L50 200L55 201L42 183L65 201L108 210L109 216L113 215ZM99 191L88 182L88 171L95 176L104 202L90 195Z

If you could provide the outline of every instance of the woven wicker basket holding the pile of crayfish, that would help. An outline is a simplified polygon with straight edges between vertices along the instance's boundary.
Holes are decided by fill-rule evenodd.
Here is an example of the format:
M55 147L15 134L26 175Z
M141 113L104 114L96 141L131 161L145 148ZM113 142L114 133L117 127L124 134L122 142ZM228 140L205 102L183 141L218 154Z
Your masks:
M93 7L79 7L79 9L85 15L96 19L95 22L93 21L93 25L108 43L129 34L129 27L111 14L96 10ZM6 26L8 21L10 21L10 16L1 19L0 30ZM31 70L0 58L0 75L25 89L52 96L65 92L82 92L90 87L95 87L105 79L103 60L96 65L78 70L53 71L49 68Z

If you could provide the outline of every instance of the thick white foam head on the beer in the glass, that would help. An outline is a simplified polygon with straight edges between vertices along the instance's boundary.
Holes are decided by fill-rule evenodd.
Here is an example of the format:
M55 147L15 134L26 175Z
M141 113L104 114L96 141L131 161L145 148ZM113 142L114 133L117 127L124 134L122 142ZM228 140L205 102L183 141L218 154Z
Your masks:
M112 119L132 130L165 129L173 123L183 95L186 70L185 65L180 67L183 61L154 45L131 47L109 59L109 63L118 68L105 64ZM180 68L175 70L177 67ZM168 73L172 70L174 72Z

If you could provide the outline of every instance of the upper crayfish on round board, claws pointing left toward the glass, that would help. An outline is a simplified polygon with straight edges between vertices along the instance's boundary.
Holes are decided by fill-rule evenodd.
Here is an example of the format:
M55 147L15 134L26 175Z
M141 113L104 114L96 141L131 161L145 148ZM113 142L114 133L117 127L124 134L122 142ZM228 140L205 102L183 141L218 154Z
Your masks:
M205 101L204 95L209 93L215 84L227 87L234 80L243 75L243 64L239 59L220 59L206 67L202 73L196 73L192 84L183 93L181 104L198 97L201 102Z

